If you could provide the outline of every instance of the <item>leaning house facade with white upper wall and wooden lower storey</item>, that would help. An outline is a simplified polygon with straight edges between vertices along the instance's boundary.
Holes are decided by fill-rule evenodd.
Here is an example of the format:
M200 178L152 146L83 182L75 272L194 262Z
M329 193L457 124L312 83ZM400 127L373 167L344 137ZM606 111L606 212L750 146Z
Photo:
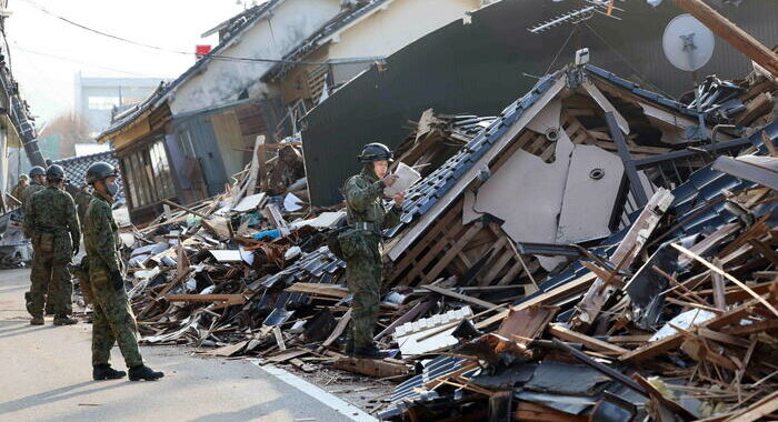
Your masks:
M278 94L260 77L341 10L341 0L270 0L219 24L219 44L149 98L114 115L98 142L112 142L130 217L146 221L163 200L222 192L251 159L258 135L288 132ZM225 58L242 58L236 61ZM256 59L256 60L255 60Z

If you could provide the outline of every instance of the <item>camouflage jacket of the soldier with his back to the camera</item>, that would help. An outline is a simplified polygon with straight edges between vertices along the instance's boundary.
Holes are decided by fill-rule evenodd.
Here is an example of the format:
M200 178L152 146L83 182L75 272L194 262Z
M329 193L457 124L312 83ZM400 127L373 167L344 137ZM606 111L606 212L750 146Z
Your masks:
M24 193L29 193L29 191L26 190ZM80 242L81 231L76 214L76 204L70 194L59 188L48 187L27 198L24 202L24 233L28 237L52 233L63 238L63 234L68 232L73 243ZM64 248L63 244L60 245Z

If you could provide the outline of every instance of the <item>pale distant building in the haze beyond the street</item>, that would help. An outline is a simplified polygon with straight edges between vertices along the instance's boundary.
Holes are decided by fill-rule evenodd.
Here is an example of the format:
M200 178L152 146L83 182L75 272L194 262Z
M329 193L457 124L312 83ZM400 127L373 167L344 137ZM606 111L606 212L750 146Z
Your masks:
M94 138L111 125L114 108L121 111L143 101L161 81L160 78L84 78L78 72L74 110L87 120Z

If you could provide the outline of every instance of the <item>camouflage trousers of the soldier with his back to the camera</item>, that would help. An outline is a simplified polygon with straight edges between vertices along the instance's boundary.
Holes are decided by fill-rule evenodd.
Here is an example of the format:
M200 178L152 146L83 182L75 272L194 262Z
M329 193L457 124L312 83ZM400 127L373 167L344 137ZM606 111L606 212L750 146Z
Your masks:
M68 262L56 259L54 252L41 251L41 248L36 244L33 244L33 251L30 271L30 300L27 307L30 314L42 316L44 303L47 311L51 310L56 315L71 314L73 312L73 284L70 280Z

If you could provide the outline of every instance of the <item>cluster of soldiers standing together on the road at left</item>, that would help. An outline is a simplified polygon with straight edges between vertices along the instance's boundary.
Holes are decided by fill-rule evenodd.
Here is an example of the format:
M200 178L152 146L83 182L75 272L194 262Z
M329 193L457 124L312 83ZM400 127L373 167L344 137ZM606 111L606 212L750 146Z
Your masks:
M70 265L79 253L81 234L86 257L77 267L84 299L91 304L92 378L116 380L127 375L111 368L110 351L118 343L129 368L129 379L157 380L162 372L143 364L138 348L138 326L124 291L121 240L113 220L112 204L119 190L116 168L93 163L87 171L87 185L66 191L68 180L58 164L33 167L29 185L20 178L12 195L22 203L24 234L33 249L30 291L26 293L30 323L43 325L43 312L53 313L54 325L78 323L72 318ZM78 205L77 205L78 204ZM44 305L46 303L46 305Z

